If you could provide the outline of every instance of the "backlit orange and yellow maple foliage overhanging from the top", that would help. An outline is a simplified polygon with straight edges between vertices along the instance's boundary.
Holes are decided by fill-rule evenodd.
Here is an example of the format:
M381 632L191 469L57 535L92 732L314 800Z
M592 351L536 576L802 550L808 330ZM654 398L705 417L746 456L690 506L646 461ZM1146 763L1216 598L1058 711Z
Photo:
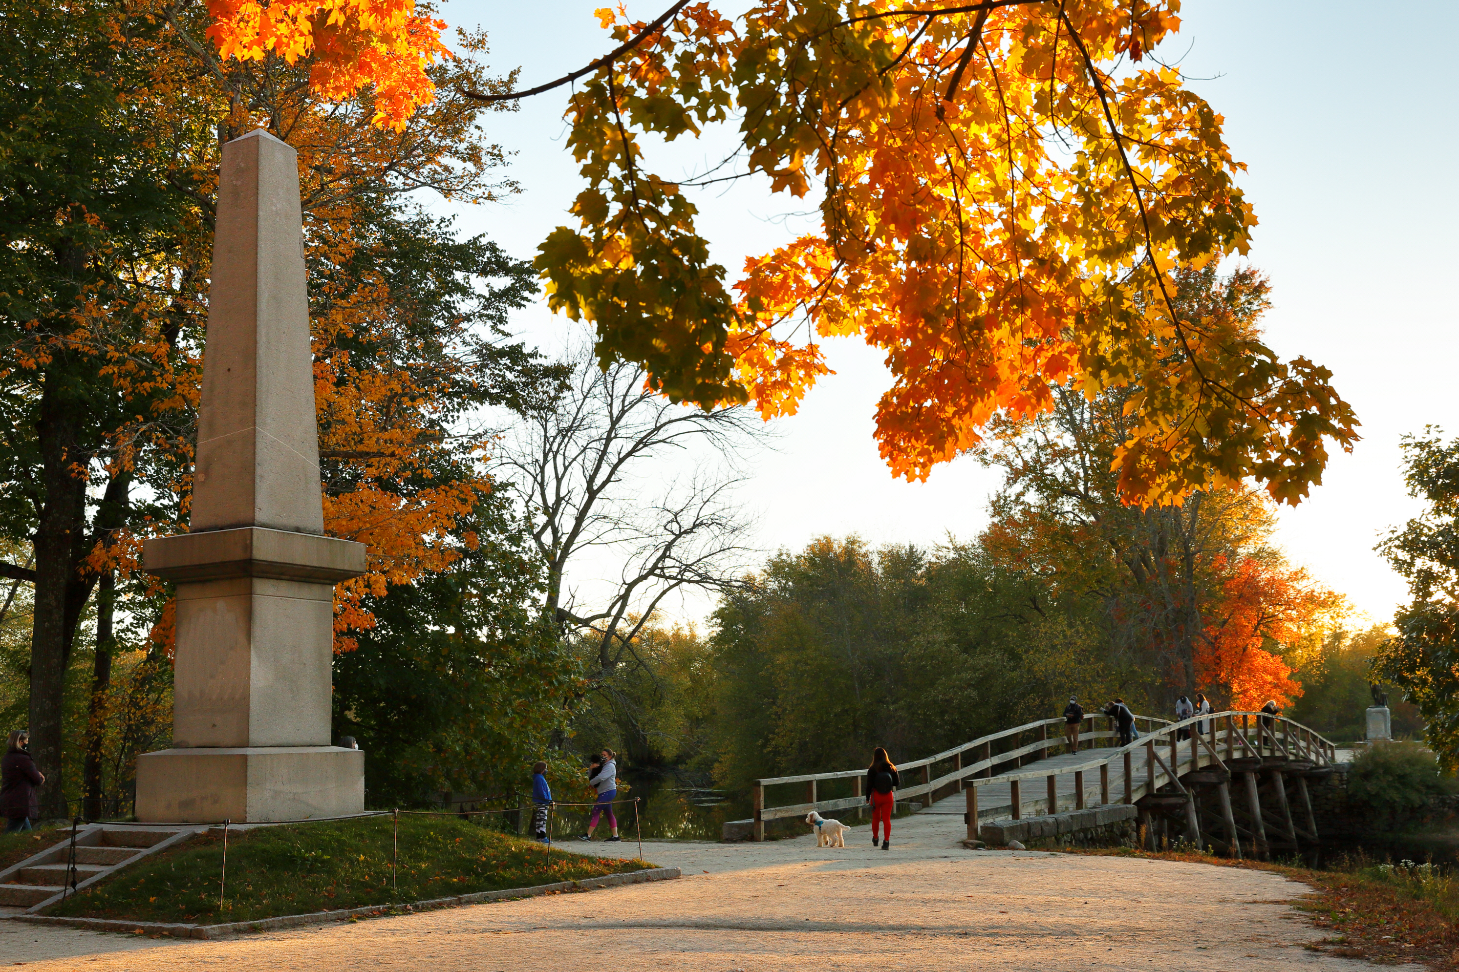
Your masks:
M225 53L286 47L255 7L229 7ZM620 6L597 12L619 41L607 55L468 93L575 83L579 225L553 231L537 267L554 308L592 321L601 360L639 362L673 400L791 413L827 372L817 339L858 336L893 374L875 435L897 474L925 477L994 416L1045 412L1074 381L1134 390L1115 457L1128 501L1250 479L1296 504L1357 420L1325 368L1173 304L1173 269L1245 254L1256 225L1221 115L1153 54L1179 9L765 0L731 19L680 0L645 23ZM359 80L372 70L349 45L318 50ZM716 123L738 126L730 175L648 166L652 139ZM821 229L731 285L684 190L747 175L816 198Z

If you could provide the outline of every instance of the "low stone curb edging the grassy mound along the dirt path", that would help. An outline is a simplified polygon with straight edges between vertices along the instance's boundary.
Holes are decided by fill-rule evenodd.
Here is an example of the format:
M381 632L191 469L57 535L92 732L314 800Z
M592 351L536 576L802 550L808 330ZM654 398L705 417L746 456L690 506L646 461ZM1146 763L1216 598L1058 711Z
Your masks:
M322 925L331 921L347 921L363 915L413 914L419 911L435 911L436 908L460 908L461 905L481 905L493 900L514 900L518 898L537 898L538 895L557 895L563 892L598 890L603 887L620 887L623 884L642 884L645 882L667 882L681 876L677 867L651 867L642 871L627 871L626 874L604 874L603 877L585 877L579 882L557 882L554 884L537 884L535 887L509 887L496 892L476 892L473 895L457 895L454 898L432 898L401 905L366 905L363 908L341 908L338 911L320 911L311 915L283 915L280 918L260 918L257 921L232 921L222 925L172 924L165 921L121 921L117 918L58 918L51 915L10 915L10 921L28 921L38 925L66 925L71 928L88 928L90 931L118 931L134 934L162 934L175 938L223 938L242 931L277 931L279 928L299 928L302 925ZM409 912L400 911L409 908Z

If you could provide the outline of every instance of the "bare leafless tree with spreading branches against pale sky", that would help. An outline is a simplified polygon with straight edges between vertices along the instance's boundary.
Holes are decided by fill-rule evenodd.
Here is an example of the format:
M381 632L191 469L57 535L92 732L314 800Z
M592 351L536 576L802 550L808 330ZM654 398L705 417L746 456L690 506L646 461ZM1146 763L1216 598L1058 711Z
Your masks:
M547 610L592 644L605 680L642 664L633 641L665 598L738 582L750 549L734 490L763 426L744 407L673 404L636 365L600 368L585 347L569 363L557 398L508 433L498 476L515 482L531 518ZM690 474L664 474L689 464ZM579 597L569 575L581 582L588 560L614 563L614 576Z

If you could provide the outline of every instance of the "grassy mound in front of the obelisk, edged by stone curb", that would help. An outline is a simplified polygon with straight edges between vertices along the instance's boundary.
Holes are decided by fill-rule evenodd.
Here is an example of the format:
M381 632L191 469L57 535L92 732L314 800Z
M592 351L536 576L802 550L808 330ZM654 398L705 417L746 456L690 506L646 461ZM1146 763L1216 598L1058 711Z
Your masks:
M391 817L229 830L226 898L220 830L143 858L47 909L127 921L254 921L409 903L481 890L636 871L652 864L552 851L457 817L400 817L391 887Z

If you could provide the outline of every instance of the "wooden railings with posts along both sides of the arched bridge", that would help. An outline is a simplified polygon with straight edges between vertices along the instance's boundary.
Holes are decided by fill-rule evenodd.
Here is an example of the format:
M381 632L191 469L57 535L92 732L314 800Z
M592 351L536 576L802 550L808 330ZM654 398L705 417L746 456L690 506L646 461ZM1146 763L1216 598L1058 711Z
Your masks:
M1083 731L1081 727L1081 746L1087 740L1103 741L1119 737L1119 733L1115 730L1113 720L1103 717L1103 714L1085 715L1084 718L1091 722L1097 718L1103 718L1106 728ZM1052 738L1049 736L1050 725L1058 727L1059 731L1059 734ZM1144 728L1141 728L1141 725L1144 725ZM988 807L980 814L978 807L978 790L992 784L1008 784L1011 816L1014 819L1020 819L1026 807L1043 813L1056 813L1062 807L1058 795L1058 781L1061 776L1074 776L1074 792L1071 800L1064 801L1072 803L1071 809L1084 809L1088 797L1084 775L1093 772L1097 772L1100 776L1099 803L1112 803L1109 792L1109 766L1112 763L1118 765L1123 771L1123 792L1121 794L1122 798L1116 803L1135 803L1141 797L1156 792L1160 787L1169 785L1172 781L1174 781L1174 785L1183 792L1179 776L1182 775L1180 766L1188 762L1188 759L1191 763L1189 771L1210 765L1218 765L1224 771L1226 760L1220 756L1223 749L1227 753L1226 759L1277 757L1282 762L1312 762L1315 766L1331 765L1335 759L1335 749L1332 743L1300 722L1288 720L1284 715L1268 715L1265 712L1233 709L1198 715L1180 722L1137 715L1135 728L1139 730L1139 738L1137 741L1126 746L1104 749L1106 755L1100 757L1090 759L1074 766L1059 766L1056 772L1049 772L1048 769L1010 772L1011 769L1021 769L1021 766L1027 762L1036 762L1046 757L1048 750L1050 749L1064 749L1065 741L1062 727L1062 718L1026 722L1024 725L1015 725L991 736L982 736L970 743L954 746L953 749L943 750L941 753L935 753L925 759L900 763L897 769L900 771L903 785L897 790L897 803L912 803L913 798L921 797L922 800L919 800L919 803L931 804L938 798L938 794L951 795L953 792L957 792L957 790L963 790L967 794L967 813L964 816L967 819L969 836L975 838L978 822L983 816L989 816L996 811L995 807ZM1182 730L1185 730L1185 733L1182 733ZM1039 738L1033 743L1021 744L1021 738L1026 733L1037 733ZM1188 738L1182 740L1182 734L1188 736ZM1013 740L1013 746L1001 753L994 753L994 744L1005 740ZM1188 746L1189 757L1180 752L1182 744ZM1142 782L1137 784L1134 778L1134 753L1139 749L1145 750L1145 778ZM1160 756L1160 750L1166 750L1169 753L1169 763ZM969 753L973 755L972 762L967 759ZM1033 753L1037 753L1037 756L1033 756ZM1024 759L1026 756L1030 759ZM995 766L1008 762L1013 762L1014 765L995 774ZM950 769L948 772L934 776L934 768L937 768L938 763L950 763ZM848 769L757 779L753 791L754 839L765 839L765 823L767 820L802 817L811 810L829 813L833 810L865 806L867 795L862 792L865 774L865 769ZM907 785L909 779L916 778L912 774L921 776L921 781ZM1039 778L1046 781L1048 795L1043 800L1024 801L1021 792L1023 781ZM854 781L854 792L851 797L832 800L818 798L818 785L821 782L839 779ZM766 803L767 788L783 788L797 784L804 787L804 798L800 803L786 803L779 806L769 806Z

